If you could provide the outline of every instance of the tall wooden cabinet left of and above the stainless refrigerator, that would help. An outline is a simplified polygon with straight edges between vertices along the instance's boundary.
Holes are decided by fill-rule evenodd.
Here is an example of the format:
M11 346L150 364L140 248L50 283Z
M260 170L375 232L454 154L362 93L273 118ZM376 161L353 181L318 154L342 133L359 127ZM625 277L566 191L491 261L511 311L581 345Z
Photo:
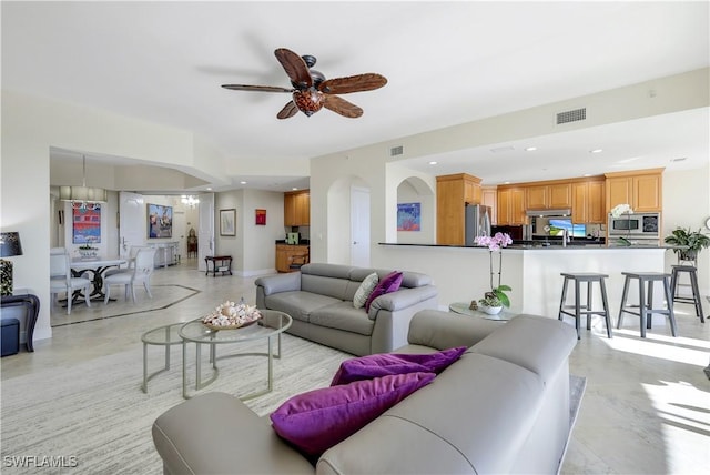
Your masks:
M480 179L466 173L436 178L436 242L466 243L466 203L480 204Z

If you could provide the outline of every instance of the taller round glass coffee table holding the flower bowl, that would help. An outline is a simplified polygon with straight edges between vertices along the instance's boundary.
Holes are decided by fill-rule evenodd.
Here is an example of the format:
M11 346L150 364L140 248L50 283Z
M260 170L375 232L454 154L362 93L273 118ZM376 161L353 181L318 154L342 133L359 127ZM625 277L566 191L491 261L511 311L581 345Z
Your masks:
M192 397L187 392L187 343L194 343L195 350L195 391L200 391L212 384L220 375L217 361L236 356L266 356L267 357L267 385L263 391L257 391L245 396L242 401L251 400L270 393L273 388L273 360L281 358L281 334L292 324L291 315L274 310L261 310L262 317L248 326L234 330L212 330L202 323L202 319L187 322L180 327L179 334L182 338L182 396L186 400ZM273 351L273 340L277 340L278 351ZM216 347L222 344L240 344L253 342L255 340L266 340L267 351L231 353L217 357ZM202 345L210 345L210 363L212 363L212 375L202 381Z

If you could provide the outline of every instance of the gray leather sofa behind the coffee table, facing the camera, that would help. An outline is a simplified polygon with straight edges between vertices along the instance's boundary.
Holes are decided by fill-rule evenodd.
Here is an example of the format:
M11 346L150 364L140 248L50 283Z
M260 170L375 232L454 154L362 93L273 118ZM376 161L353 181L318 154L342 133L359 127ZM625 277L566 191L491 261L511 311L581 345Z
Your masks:
M438 291L432 277L403 272L398 291L355 309L353 296L373 272L383 279L392 271L311 263L301 272L258 277L256 306L285 312L293 319L288 333L362 356L387 353L406 343L412 316L436 309Z

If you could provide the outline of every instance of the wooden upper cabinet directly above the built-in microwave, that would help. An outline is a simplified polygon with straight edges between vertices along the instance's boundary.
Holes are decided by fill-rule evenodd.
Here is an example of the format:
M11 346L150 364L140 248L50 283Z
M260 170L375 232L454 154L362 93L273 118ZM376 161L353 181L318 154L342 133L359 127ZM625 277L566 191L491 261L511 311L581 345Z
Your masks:
M629 204L633 211L661 211L663 169L606 173L607 209Z

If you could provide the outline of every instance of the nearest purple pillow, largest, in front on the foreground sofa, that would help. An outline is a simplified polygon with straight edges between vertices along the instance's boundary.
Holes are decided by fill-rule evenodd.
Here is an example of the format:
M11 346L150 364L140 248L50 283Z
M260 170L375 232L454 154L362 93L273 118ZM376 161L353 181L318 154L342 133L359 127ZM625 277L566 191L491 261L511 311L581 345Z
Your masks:
M434 373L398 374L310 391L283 403L271 422L281 437L318 457L434 377Z

